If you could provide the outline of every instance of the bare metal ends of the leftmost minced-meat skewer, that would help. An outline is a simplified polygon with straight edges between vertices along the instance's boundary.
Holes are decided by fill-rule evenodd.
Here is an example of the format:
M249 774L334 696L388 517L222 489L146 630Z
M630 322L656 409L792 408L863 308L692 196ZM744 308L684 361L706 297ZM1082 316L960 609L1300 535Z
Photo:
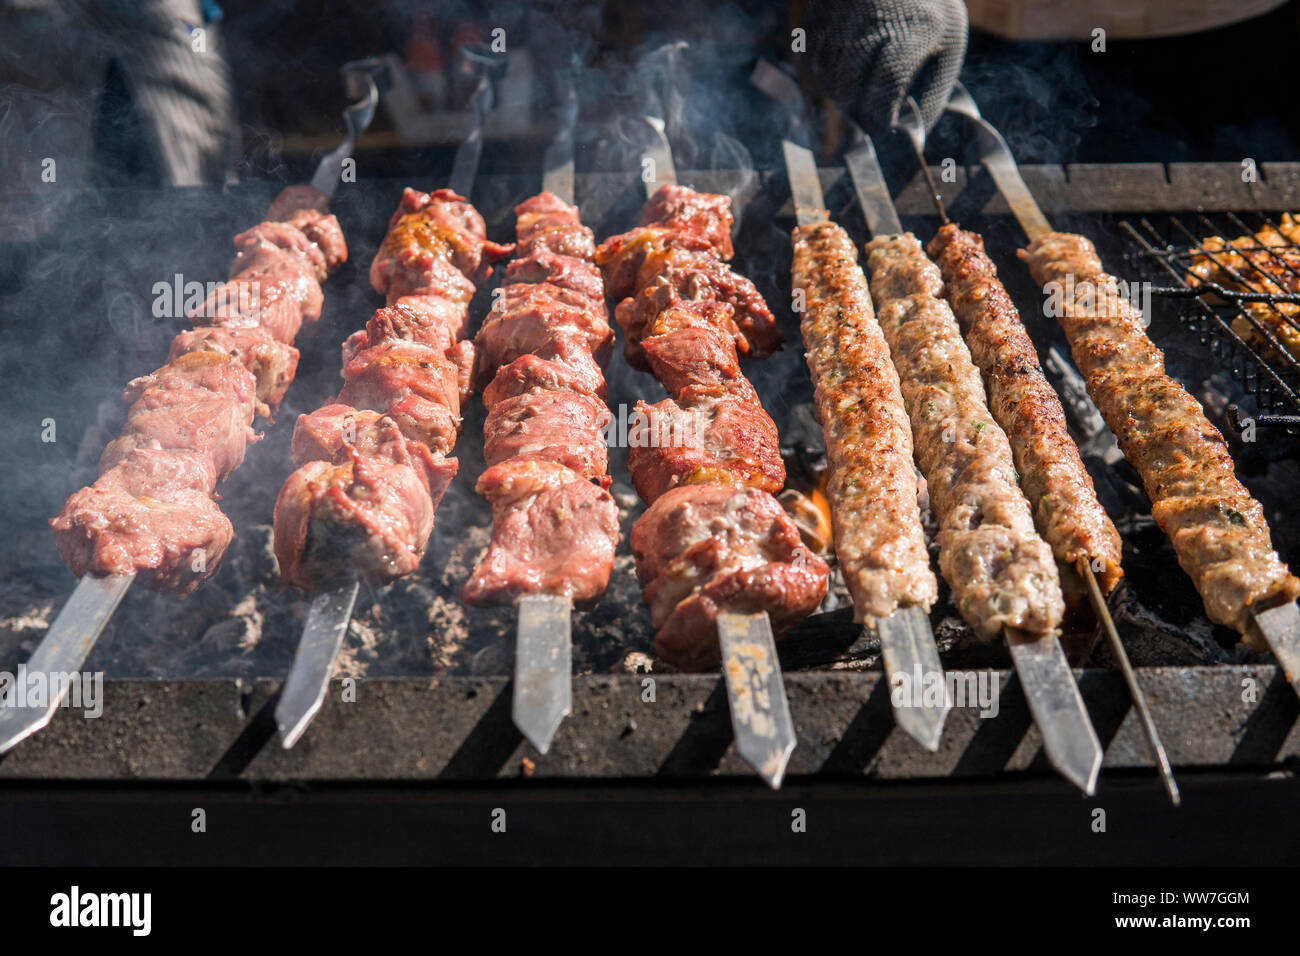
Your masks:
M818 179L812 152L789 140L781 143L781 148L785 152L785 169L790 179L790 195L794 199L794 216L798 224L803 226L826 222L829 215L822 196L822 183ZM930 679L930 675L942 675L939 646L930 628L930 617L923 609L900 607L880 620L876 633L880 636L880 656L889 687L894 687L900 680L913 680L919 687L918 676ZM946 685L940 702L926 704L924 700L926 695L919 695L911 705L896 705L894 721L927 750L937 750L944 721L953 705L948 698Z

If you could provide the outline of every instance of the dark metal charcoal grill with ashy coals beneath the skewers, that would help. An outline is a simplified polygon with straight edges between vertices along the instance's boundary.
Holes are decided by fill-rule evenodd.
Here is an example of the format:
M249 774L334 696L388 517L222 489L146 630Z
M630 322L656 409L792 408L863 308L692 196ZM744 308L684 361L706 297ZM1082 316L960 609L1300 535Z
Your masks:
M1053 221L1092 237L1104 261L1119 261L1115 256L1121 250L1135 251L1132 268L1139 268L1140 259L1145 268L1164 269L1165 276L1170 271L1178 274L1184 261L1179 256L1186 258L1187 248L1193 248L1183 232L1195 238L1231 238L1252 232L1248 225L1260 221L1258 216L1300 207L1300 164L1262 164L1261 179L1253 185L1242 183L1239 166L1231 164L1024 166L1022 172ZM335 208L352 245L354 263L369 261L400 187L430 186L433 178L358 183L355 191L339 196ZM699 189L727 191L744 176L681 173L680 178ZM844 170L824 169L820 178L832 217L855 237L863 237ZM940 186L953 217L984 234L1013 298L1032 319L1040 308L1040 291L1014 259L1017 226L992 182L980 169L958 169L956 182L940 177ZM580 174L577 200L584 219L602 237L627 228L641 204L640 187L634 174ZM473 199L489 221L489 234L508 235L511 207L536 190L536 176L484 177ZM918 174L896 194L904 225L928 233L933 207L922 177ZM192 255L182 248L179 255L202 261L208 274L220 274L225 251L211 237L233 233L228 226L242 221L237 216L254 221L265 200L263 191L254 189L220 198L209 191L181 190L169 200L176 203L173 209L160 212L156 196L136 195L118 196L118 207L109 212L136 222L142 234L150 233L147 222L153 224L155 235L159 221L177 222L188 216L204 222L195 247L217 248ZM222 211L214 216L217 208ZM1196 209L1202 212L1190 212ZM1222 216L1208 219L1212 212ZM213 217L222 222L212 224ZM774 307L789 302L792 221L784 176L760 173L757 193L744 211L738 267L755 278ZM1236 229L1238 221L1247 228ZM1204 229L1205 222L1214 228ZM1182 235L1182 242L1175 235ZM144 289L159 271L156 263L148 261L156 255L157 247L152 248L135 265L133 281ZM291 407L283 412L287 420L337 388L333 376L339 333L359 326L373 308L373 297L363 287L363 269L350 268L355 272L341 274L339 291L328 299L321 341L304 352L299 382L290 393ZM1284 416L1300 411L1300 405L1287 403L1295 401L1300 385L1292 369L1269 364L1261 350L1232 333L1231 311L1240 310L1242 302L1212 306L1184 290L1157 302L1156 319L1165 325L1156 339L1170 351L1178 375L1193 380L1195 386L1205 376L1190 371L1205 372L1206 356L1213 354L1216 368L1235 368L1240 376L1235 381L1243 393L1225 394L1225 408L1258 402L1278 418L1278 424L1291 424ZM473 315L484 311L478 303ZM1186 321L1191 313L1196 323ZM1040 349L1058 345L1049 323L1030 325ZM784 328L797 342L797 325L788 310ZM1202 343L1208 328L1219 338ZM1214 342L1228 342L1232 349ZM1218 351L1208 351L1214 349ZM612 407L630 407L636 397L649 394L653 385L638 375L624 365L611 368ZM118 369L96 372L96 381L107 381L99 394L109 395L125 377ZM811 390L797 346L788 347L781 362L754 367L753 378L784 434L794 410ZM474 414L480 420L472 418ZM481 433L481 415L476 405L465 436ZM84 412L82 416L88 418ZM472 493L473 477L482 467L481 449L476 451L472 440L458 449L463 458L463 477L454 485L459 486L459 497L450 497L452 506L445 503L439 512L441 527L425 570L413 576L417 580L399 583L377 600L372 594L369 613L360 615L361 631L352 636L355 653L348 661L356 667L348 672L367 678L359 683L356 701L342 702L335 688L302 744L291 752L281 750L273 739L272 719L278 684L269 678L287 667L298 632L295 615L303 602L299 594L266 584L273 574L259 550L263 538L257 529L269 523L274 492L287 473L290 431L285 423L272 429L252 450L250 459L255 460L225 489L239 531L240 555L228 561L228 567L188 606L133 594L96 652L99 657L88 663L107 675L104 717L87 721L74 711L61 711L46 731L0 760L0 780L491 782L532 777L612 782L748 775L729 748L722 678L645 669L650 662L649 620L625 544L610 593L575 624L573 715L547 756L538 756L523 741L510 721L504 676L512 622L507 614L465 614L456 607L463 562L477 555L488 527L486 507ZM1126 481L1126 466L1108 457L1102 441L1108 436L1093 437L1096 441L1088 442L1089 464L1096 466L1095 476L1105 479L1098 490L1119 519L1127 542L1126 563L1132 568L1126 598L1132 613L1121 607L1118 618L1126 639L1134 641L1131 653L1174 765L1252 777L1294 770L1300 760L1300 702L1268 659L1231 648L1225 635L1210 628L1195 591L1152 528L1140 496L1131 490L1132 483ZM1280 520L1274 520L1275 536L1288 546L1300 529L1300 511L1284 496L1284 479L1296 467L1290 449L1283 454L1275 445L1243 446L1239 467L1252 488L1258 481L1252 483L1251 476L1262 476L1266 486L1261 498L1270 518L1282 512ZM625 485L627 472L619 468L621 462L612 471ZM1280 470L1283 477L1270 477L1269 470ZM25 644L40 635L39 627L17 627L14 622L30 618L32 609L57 610L66 594L66 574L57 566L48 533L39 528L39 519L52 514L61 496L74 486L68 477L61 481L66 488L48 489L46 497L51 501L38 498L32 505L35 518L16 531L14 553L5 559L8 567L0 568L12 583L0 605L0 614L9 622L8 632L0 632L0 669L13 670L26 657ZM30 490L30 485L26 488ZM471 533L474 528L478 537ZM1283 557L1292 566L1300 563L1294 546ZM222 631L234 630L231 622L239 619L231 609L242 601L252 601L260 615L256 635L246 635L251 648L240 645L238 633L224 637ZM875 670L878 648L853 626L846 607L828 607L783 643L800 740L790 765L794 778L956 780L1050 775L1014 675L1006 670L1005 652L954 649L962 633L956 615L939 611L935 620L941 646L949 652L949 670L992 669L997 674L1002 691L1000 717L982 721L972 709L958 709L949 719L939 753L922 750L894 728L888 688ZM439 656L432 648L451 627L463 632L459 649ZM213 648L207 657L176 653L178 646L204 643ZM1106 747L1104 795L1106 771L1147 767L1149 754L1117 672L1089 667L1080 688Z

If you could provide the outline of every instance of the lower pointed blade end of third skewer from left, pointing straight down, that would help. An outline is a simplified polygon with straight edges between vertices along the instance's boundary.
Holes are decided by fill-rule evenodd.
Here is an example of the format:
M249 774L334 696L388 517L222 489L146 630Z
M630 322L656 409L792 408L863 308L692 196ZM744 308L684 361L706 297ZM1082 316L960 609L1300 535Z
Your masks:
M552 594L519 601L512 717L520 734L546 753L573 709L573 602Z

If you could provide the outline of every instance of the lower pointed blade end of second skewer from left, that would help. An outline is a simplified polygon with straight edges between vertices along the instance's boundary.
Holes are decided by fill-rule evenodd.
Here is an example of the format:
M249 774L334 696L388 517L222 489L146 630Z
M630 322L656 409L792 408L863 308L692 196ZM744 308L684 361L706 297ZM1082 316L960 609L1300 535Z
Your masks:
M360 583L354 579L312 598L294 665L276 704L276 724L286 750L298 743L325 702L329 679L334 676L334 661L352 620L359 589Z

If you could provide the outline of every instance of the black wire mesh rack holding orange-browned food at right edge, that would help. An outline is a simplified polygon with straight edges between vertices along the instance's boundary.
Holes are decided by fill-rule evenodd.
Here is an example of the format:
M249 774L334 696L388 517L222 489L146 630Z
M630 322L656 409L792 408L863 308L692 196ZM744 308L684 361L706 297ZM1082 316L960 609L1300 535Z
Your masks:
M1187 213L1119 224L1180 320L1258 406L1253 421L1300 433L1300 219ZM1234 425L1240 411L1230 408Z

